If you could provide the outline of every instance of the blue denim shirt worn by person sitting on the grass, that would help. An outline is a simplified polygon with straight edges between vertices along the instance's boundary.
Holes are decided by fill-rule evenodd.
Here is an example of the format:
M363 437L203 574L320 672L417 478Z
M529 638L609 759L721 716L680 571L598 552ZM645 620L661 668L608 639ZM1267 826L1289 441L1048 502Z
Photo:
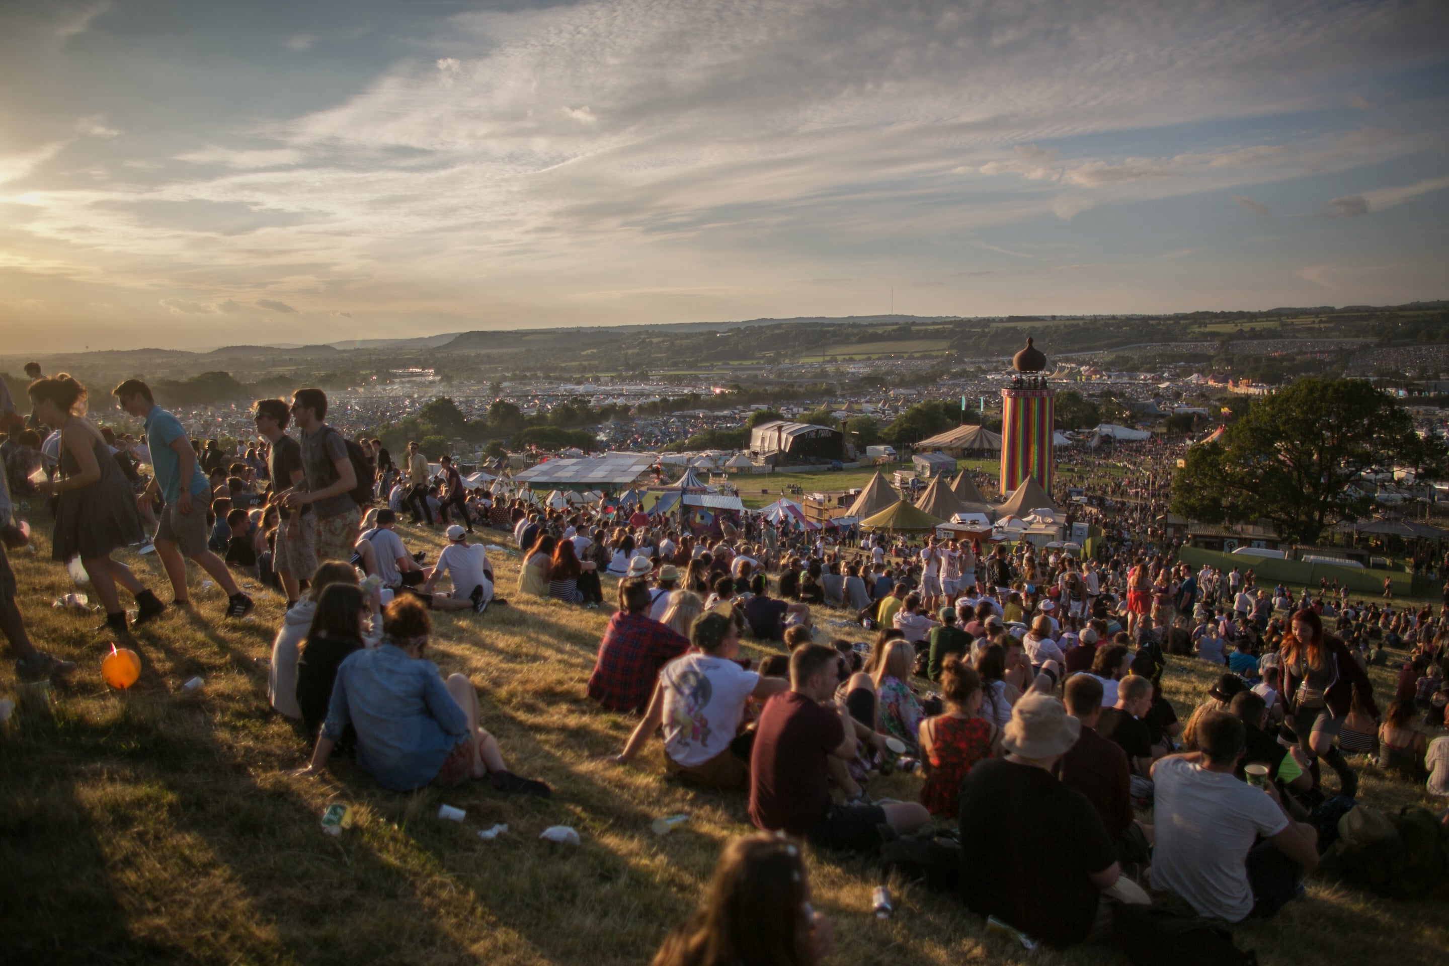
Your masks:
M443 686L438 665L390 643L338 665L322 734L341 739L348 724L358 736L358 765L394 791L433 781L468 736L468 717Z

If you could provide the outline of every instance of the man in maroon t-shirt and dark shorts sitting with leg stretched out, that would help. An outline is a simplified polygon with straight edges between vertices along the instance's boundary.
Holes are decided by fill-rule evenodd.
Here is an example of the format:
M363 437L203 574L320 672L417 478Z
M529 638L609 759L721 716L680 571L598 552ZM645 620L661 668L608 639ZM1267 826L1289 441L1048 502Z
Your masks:
M920 802L836 805L829 759L855 757L856 728L843 705L827 702L839 684L839 652L820 644L790 655L790 691L765 704L749 765L749 817L765 831L803 836L820 849L864 852L878 826L909 833L930 821Z

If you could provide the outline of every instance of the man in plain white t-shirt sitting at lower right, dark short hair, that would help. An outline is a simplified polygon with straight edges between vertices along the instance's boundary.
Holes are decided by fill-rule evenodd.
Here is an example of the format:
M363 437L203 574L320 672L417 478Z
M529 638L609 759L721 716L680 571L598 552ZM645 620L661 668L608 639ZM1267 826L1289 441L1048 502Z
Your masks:
M1236 715L1204 714L1197 743L1200 752L1152 766L1152 888L1177 894L1208 918L1272 915L1319 866L1317 831L1288 817L1272 782L1256 788L1233 776L1248 750Z

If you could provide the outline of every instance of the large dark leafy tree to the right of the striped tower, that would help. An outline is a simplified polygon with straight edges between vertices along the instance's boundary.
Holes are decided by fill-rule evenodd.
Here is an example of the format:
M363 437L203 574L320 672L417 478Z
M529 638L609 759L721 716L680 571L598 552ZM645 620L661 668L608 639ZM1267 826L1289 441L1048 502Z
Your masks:
M1443 472L1446 450L1362 379L1298 379L1253 400L1219 442L1188 449L1172 478L1172 513L1203 523L1265 517L1285 540L1314 543L1324 527L1358 520L1374 498L1350 484L1375 466Z

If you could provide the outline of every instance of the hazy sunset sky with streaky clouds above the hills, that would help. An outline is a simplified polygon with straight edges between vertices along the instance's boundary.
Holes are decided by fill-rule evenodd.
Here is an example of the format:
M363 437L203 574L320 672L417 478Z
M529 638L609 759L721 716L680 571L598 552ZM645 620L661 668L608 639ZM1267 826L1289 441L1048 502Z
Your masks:
M1449 298L1442 0L12 0L10 352Z

